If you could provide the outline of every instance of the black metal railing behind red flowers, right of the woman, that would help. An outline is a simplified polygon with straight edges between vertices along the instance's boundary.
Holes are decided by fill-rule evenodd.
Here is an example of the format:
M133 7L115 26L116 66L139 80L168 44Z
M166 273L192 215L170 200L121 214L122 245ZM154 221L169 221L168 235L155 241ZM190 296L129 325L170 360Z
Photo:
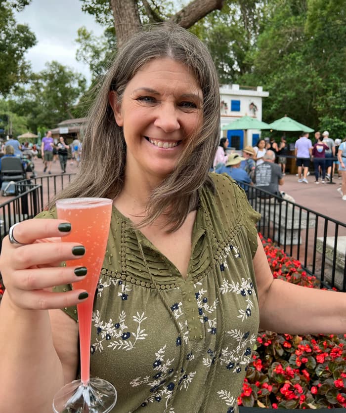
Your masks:
M346 223L256 186L241 184L261 214L258 231L302 263L322 287L346 291Z

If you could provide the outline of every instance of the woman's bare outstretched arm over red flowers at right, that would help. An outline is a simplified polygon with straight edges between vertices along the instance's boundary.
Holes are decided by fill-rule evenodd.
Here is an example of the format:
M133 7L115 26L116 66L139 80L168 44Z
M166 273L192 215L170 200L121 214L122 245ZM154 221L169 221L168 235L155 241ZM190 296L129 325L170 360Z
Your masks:
M254 268L260 328L290 334L346 332L346 294L274 279L258 238Z

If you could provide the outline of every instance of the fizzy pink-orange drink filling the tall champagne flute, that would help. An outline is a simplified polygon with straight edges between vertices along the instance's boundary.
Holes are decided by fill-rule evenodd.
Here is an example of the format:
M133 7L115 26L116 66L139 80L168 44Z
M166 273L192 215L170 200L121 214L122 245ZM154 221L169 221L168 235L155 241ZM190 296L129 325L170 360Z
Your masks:
M81 348L81 380L89 381L91 314L95 290L106 251L112 214L112 200L106 198L71 198L56 202L59 219L72 225L64 242L78 242L86 248L81 258L66 261L67 266L87 267L84 280L74 283L75 289L86 289L89 297L77 305Z

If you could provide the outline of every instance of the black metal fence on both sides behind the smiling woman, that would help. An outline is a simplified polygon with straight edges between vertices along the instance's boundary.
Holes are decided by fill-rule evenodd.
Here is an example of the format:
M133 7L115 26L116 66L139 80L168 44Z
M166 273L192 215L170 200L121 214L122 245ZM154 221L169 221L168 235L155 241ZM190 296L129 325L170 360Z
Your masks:
M58 174L20 181L21 193L0 205L0 239L11 225L33 218L75 174ZM261 213L258 231L288 255L323 287L346 291L346 224L274 196L256 186L242 184L252 207Z

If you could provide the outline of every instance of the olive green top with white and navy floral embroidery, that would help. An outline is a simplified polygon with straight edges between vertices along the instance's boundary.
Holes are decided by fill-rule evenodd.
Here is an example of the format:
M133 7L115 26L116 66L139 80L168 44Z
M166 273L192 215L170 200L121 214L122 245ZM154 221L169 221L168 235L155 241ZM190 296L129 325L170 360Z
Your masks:
M90 370L116 387L114 413L238 411L259 327L259 213L228 175L212 176L216 193L200 190L186 280L113 209ZM75 309L64 311L77 319Z

